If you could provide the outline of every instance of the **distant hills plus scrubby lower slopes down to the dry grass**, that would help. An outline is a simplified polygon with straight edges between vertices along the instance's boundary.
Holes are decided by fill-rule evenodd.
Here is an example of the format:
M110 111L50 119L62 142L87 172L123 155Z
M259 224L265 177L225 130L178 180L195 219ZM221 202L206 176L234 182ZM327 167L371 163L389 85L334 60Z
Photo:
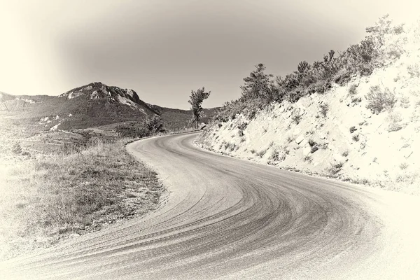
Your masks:
M190 111L146 104L134 90L103 83L76 87L58 97L0 94L0 150L15 141L25 151L50 153L94 139L142 137L149 134L148 121L158 122L161 131L191 127ZM205 109L202 120L207 122L216 111Z

